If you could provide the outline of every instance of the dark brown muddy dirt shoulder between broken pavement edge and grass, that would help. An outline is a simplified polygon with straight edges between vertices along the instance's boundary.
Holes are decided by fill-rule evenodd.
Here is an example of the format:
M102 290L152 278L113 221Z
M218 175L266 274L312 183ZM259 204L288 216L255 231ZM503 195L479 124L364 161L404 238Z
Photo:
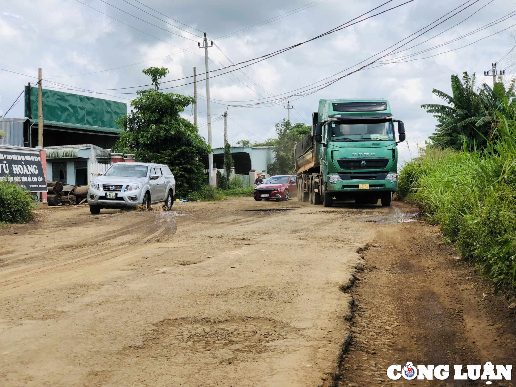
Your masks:
M407 204L401 208L410 211ZM354 299L352 340L344 348L334 386L411 383L386 376L390 365L407 361L450 366L448 379L418 381L422 385L486 385L454 380L453 365L512 365L516 315L507 300L495 297L490 283L455 259L437 228L420 221L377 224L364 251L366 270L347 289ZM514 385L506 380L497 384Z

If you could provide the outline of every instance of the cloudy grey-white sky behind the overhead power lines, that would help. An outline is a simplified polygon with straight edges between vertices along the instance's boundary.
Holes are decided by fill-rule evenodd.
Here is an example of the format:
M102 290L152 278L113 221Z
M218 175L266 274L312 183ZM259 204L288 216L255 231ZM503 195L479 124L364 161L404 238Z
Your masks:
M384 98L395 118L405 122L408 141L401 152L409 158L416 142L424 144L434 130L434 118L420 107L439 101L433 88L450 92L450 75L464 71L476 73L478 83L492 85L492 78L483 76L491 63L498 61L498 69L510 66L516 50L506 54L513 46L516 7L502 0L405 2L0 0L0 115L27 82L35 82L39 67L45 88L126 88L79 93L127 102L130 110L138 89L130 87L149 83L143 68L167 67L170 74L164 80L191 76L194 66L204 72L204 50L198 48L204 31L214 41L208 51L209 69L215 70L314 38L366 12L357 21L399 6L211 79L213 146L223 144L220 115L226 109L228 137L234 143L275 136L275 123L287 116L283 97L294 105L292 122L309 122L319 99ZM322 83L375 59L379 61L319 90ZM511 73L506 72L506 80ZM199 80L199 127L207 137L206 88L203 76ZM189 82L162 88L192 95L192 85L182 86ZM262 104L253 105L257 102ZM184 117L193 121L190 108ZM7 117L23 115L22 101Z

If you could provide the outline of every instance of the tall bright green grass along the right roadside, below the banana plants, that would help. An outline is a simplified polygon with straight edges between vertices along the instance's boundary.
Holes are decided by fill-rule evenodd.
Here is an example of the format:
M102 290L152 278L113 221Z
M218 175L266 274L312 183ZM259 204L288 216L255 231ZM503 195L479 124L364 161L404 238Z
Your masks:
M427 149L400 173L398 194L441 226L448 243L499 288L516 285L516 124L485 151Z

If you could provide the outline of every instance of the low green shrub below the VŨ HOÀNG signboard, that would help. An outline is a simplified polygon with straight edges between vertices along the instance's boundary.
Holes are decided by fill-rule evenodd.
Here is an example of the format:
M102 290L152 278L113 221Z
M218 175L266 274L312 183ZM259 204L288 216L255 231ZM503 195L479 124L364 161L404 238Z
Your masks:
M0 181L0 222L24 223L34 218L30 192L18 184Z

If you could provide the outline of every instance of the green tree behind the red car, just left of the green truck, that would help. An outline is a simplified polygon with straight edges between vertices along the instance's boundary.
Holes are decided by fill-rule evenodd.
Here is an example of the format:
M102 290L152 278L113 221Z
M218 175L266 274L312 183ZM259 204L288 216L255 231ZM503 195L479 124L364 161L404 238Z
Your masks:
M276 133L278 138L272 150L275 152L276 158L268 166L270 174L289 174L295 173L294 164L294 147L296 144L306 137L312 130L310 125L301 122L292 125L290 121L283 119L282 122L276 124Z

